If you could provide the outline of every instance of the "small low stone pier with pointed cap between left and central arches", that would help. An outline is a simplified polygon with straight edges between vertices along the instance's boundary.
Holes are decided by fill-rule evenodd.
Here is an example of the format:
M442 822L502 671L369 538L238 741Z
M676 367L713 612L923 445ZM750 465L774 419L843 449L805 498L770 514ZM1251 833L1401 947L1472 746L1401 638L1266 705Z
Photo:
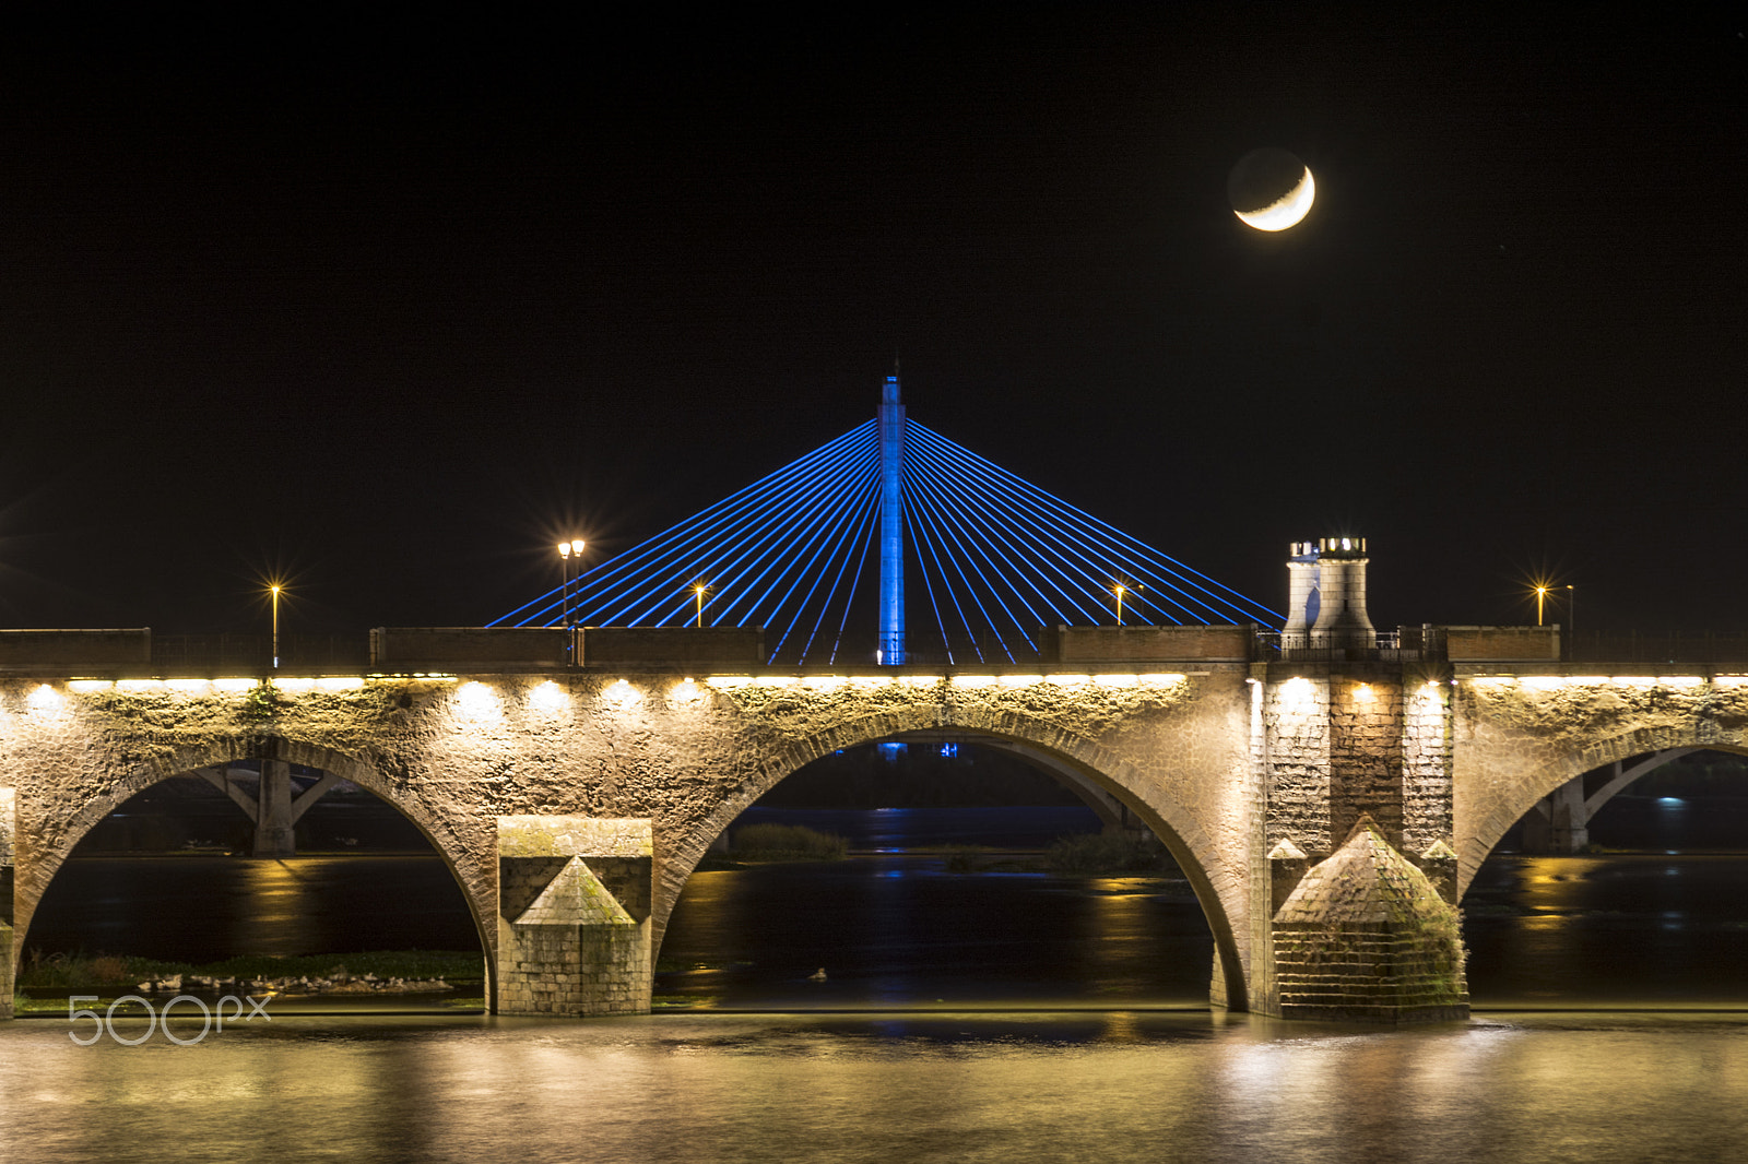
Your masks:
M649 820L498 818L498 1014L649 1014Z

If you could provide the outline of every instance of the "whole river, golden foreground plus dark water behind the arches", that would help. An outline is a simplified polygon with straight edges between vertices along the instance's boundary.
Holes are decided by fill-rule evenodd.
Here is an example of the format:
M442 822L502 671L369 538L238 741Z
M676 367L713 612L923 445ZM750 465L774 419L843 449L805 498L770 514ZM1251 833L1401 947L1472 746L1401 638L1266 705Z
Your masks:
M1741 1159L1748 855L1666 828L1741 804L1636 811L1650 851L1484 867L1468 1024L1208 1012L1183 881L953 872L879 849L1017 848L1061 821L862 813L836 823L867 856L696 874L649 1017L285 1007L192 1047L0 1024L0 1159ZM30 942L56 933L182 958L472 942L442 865L413 856L80 860Z

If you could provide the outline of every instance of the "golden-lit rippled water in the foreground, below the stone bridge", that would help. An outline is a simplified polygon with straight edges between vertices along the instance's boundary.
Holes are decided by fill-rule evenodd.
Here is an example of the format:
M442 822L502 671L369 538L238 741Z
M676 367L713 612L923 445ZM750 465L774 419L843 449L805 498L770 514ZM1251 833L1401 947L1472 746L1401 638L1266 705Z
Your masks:
M1353 1029L1208 1014L0 1028L0 1155L273 1161L1701 1161L1748 1021Z

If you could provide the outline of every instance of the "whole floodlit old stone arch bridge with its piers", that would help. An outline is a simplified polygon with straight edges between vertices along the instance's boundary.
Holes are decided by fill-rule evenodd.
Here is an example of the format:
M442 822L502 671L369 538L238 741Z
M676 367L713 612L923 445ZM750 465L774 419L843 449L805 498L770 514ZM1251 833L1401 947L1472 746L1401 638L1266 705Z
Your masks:
M1250 627L1063 629L1042 666L836 671L738 662L760 655L710 631L591 631L556 654L538 636L566 633L516 633L531 650L423 634L399 640L423 655L378 650L369 673L271 678L0 643L0 986L98 820L255 759L355 781L425 832L474 912L493 1010L642 1012L680 890L743 809L832 750L954 738L1159 834L1213 930L1217 1005L1461 1017L1456 907L1517 818L1629 757L1748 752L1748 664L1561 664L1536 627L1262 659Z

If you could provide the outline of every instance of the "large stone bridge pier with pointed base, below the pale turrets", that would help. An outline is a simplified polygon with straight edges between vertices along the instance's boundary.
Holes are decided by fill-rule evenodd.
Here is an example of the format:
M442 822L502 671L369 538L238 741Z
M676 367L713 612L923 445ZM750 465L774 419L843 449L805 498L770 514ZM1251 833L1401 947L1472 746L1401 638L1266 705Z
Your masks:
M1444 841L1447 682L1381 661L1252 671L1269 867L1253 909L1271 918L1253 956L1267 972L1257 1008L1365 1022L1467 1017L1456 858Z

